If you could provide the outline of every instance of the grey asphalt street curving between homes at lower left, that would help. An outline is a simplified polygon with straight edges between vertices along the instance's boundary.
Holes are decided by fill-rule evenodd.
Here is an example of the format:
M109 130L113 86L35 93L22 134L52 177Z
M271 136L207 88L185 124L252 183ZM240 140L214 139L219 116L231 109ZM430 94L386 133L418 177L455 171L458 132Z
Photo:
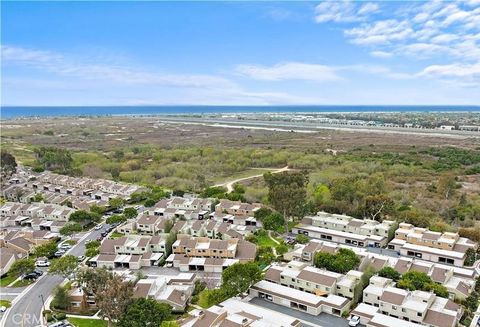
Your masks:
M66 254L81 256L85 253L85 242L95 240L108 227L104 225L100 230L88 232L83 240L75 244ZM52 293L55 286L62 283L63 277L44 274L26 292L18 295L12 307L6 312L0 322L0 327L36 327L45 326L41 321L43 301ZM43 297L43 301L42 301Z

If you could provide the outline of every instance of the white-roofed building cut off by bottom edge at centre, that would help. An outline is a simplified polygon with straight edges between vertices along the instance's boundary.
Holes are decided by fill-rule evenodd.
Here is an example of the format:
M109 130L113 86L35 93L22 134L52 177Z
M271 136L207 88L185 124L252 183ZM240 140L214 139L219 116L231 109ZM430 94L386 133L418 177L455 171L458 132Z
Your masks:
M230 298L206 310L194 314L182 322L182 327L240 327L240 326L282 326L300 327L297 318L269 310L252 303Z

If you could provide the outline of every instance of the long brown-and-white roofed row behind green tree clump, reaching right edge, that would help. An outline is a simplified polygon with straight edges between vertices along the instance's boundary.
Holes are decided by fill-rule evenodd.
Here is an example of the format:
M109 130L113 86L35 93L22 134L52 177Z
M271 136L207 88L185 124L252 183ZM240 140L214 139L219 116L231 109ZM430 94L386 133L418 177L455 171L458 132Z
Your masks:
M311 240L305 245L297 245L293 251L284 255L284 260L297 260L312 264L315 253L335 253L340 248L353 250L360 257L361 268L371 265L376 270L391 267L400 274L409 271L424 272L430 276L433 281L443 284L449 292L449 298L452 300L463 300L468 297L474 289L474 280L477 277L477 272L473 268L433 263L418 258L386 256L368 252L366 249L347 247L326 241Z

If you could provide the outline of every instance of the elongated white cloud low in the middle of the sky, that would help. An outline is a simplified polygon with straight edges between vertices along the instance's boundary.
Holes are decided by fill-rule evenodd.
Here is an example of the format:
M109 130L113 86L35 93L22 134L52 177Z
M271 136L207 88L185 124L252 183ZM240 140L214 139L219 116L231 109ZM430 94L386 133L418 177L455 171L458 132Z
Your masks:
M335 70L329 66L299 62L281 63L271 67L239 65L235 71L240 75L265 81L305 80L323 82L340 79Z

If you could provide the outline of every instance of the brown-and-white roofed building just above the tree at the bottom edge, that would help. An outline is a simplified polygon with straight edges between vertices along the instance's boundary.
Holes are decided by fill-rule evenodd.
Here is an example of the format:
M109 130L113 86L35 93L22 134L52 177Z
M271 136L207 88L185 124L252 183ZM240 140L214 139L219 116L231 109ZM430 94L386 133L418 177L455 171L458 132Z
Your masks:
M195 288L195 274L157 276L140 279L135 284L134 298L150 298L169 304L174 312L184 312Z

